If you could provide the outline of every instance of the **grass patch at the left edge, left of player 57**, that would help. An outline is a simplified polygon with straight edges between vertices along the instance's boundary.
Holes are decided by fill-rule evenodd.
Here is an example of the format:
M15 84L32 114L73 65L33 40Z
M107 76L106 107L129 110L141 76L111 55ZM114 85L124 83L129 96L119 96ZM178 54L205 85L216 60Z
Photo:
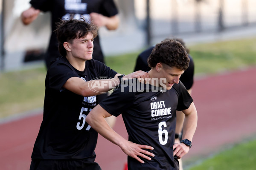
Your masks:
M0 73L0 118L43 107L45 68Z

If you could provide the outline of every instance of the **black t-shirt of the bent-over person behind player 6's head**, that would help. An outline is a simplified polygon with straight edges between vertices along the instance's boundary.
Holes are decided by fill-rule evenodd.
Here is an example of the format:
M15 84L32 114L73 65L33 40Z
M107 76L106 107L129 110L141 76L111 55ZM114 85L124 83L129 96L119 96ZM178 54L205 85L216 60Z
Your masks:
M142 53L139 54L137 57L136 65L134 71L142 70L142 71L149 71L151 68L148 66L147 59L150 56L154 46L146 49ZM186 89L189 90L192 88L194 83L194 61L190 55L189 56L189 67L188 69L181 75L180 81L185 85Z

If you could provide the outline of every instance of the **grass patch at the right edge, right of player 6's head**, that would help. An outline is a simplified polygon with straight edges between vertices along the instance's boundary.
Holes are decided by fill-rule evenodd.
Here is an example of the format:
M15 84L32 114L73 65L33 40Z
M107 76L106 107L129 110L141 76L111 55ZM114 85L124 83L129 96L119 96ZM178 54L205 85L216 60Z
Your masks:
M215 74L256 65L255 47L255 38L192 46L195 74Z

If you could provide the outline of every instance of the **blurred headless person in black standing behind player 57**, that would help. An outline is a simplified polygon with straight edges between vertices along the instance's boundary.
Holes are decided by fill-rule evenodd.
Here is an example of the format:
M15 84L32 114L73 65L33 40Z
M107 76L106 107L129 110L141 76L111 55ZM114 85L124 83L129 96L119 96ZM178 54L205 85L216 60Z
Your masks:
M56 29L55 23L58 23L60 19L69 19L69 14L75 14L75 17L80 18L81 14L88 22L98 27L105 26L108 30L115 30L119 26L118 9L113 0L31 0L30 4L31 7L21 14L25 25L32 23L41 11L51 13L52 34L44 57L47 69L52 59L61 57L58 52L58 41L53 32ZM93 59L105 63L99 36L94 39L93 44Z

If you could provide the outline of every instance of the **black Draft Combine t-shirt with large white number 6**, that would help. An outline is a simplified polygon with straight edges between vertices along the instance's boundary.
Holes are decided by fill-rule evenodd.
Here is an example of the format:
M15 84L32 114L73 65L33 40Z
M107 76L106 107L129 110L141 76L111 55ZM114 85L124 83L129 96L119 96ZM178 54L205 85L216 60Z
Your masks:
M151 161L141 158L144 164L128 156L130 170L178 170L173 156L176 110L192 102L181 82L162 93L155 86L126 81L99 105L114 116L122 114L129 141L154 147L148 150L155 155Z

